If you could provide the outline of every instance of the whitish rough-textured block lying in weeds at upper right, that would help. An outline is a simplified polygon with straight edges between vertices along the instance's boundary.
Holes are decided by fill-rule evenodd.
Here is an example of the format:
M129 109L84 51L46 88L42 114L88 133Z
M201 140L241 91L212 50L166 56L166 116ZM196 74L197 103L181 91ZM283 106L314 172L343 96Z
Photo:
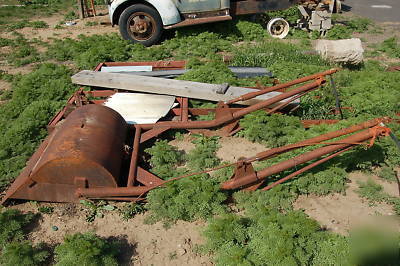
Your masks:
M344 64L362 63L364 49L358 38L345 40L317 40L315 50L322 58Z

